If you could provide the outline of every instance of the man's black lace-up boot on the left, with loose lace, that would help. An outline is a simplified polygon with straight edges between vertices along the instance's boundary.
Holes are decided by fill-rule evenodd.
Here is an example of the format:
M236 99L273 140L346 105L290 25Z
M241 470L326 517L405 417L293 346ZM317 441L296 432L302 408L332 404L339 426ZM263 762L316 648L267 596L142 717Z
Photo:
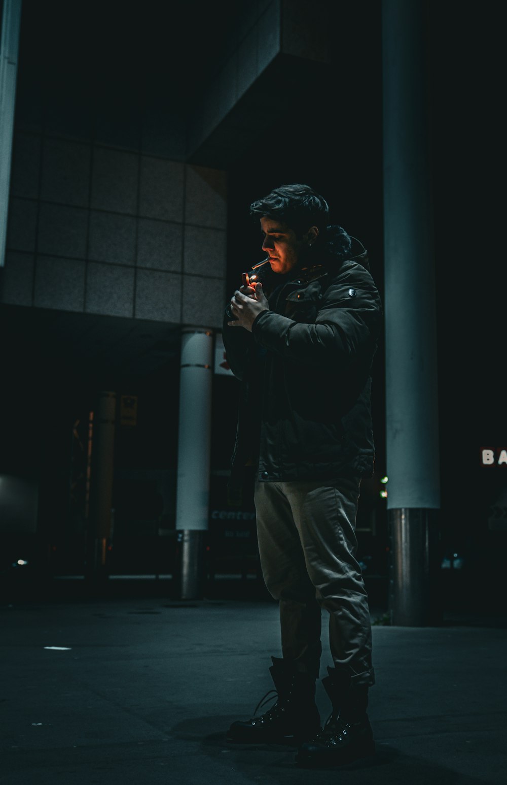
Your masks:
M265 714L230 726L228 741L243 744L301 744L320 730L320 715L315 703L315 679L295 670L291 660L272 657L270 674L277 703ZM267 693L269 696L270 693ZM273 696L274 698L274 696ZM256 707L263 705L266 696Z

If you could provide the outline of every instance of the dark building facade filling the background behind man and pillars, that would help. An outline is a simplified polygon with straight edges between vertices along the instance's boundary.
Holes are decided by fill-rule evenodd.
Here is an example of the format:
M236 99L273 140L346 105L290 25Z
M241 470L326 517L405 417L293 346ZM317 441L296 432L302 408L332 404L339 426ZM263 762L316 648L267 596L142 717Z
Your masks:
M496 12L486 5L477 20L455 2L422 5L440 548L458 581L451 567L501 566L507 527L501 221L491 190L498 63L487 43ZM282 182L313 185L333 221L368 247L383 294L382 112L375 0L24 0L0 271L2 569L19 552L49 575L84 570L90 429L97 440L100 395L111 392L107 564L172 571L182 336L194 330L214 347L208 546L219 556L215 532L223 555L241 554L241 570L255 570L252 505L230 509L224 491L237 382L219 356L226 299L260 259L248 206ZM359 533L386 582L384 356L381 341L377 469L364 484Z

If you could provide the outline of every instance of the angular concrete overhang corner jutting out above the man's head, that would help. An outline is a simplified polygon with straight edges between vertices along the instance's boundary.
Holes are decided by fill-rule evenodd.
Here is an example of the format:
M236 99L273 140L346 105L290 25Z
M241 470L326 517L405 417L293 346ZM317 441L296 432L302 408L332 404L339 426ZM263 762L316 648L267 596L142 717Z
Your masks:
M214 70L205 75L203 68L203 89L190 102L188 163L226 169L270 126L311 111L330 71L331 6L328 0L247 5L210 64Z

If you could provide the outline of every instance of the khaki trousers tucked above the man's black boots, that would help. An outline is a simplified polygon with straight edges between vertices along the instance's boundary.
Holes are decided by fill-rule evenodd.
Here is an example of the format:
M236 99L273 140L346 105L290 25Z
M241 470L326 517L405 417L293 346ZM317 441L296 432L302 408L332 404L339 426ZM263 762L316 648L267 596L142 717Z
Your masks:
M321 608L335 667L372 685L368 594L355 553L359 478L255 484L263 578L280 603L281 648L319 677Z

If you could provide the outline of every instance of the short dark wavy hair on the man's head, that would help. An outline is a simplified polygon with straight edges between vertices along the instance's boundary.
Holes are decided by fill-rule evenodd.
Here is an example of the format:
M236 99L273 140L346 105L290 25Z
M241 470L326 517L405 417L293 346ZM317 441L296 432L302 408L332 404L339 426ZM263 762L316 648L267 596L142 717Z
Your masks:
M276 219L290 226L296 234L302 234L310 226L317 226L319 229L326 227L329 206L310 185L294 183L280 185L263 199L252 202L250 215Z

